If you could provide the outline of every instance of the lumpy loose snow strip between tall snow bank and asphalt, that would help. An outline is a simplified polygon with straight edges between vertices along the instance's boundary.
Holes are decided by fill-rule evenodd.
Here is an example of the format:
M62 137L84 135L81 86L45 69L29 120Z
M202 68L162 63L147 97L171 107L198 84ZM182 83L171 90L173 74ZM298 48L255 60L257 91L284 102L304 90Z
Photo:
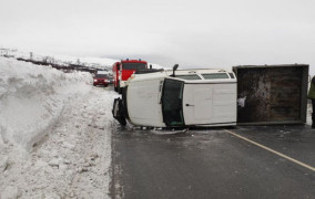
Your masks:
M0 190L22 198L110 198L110 112L114 92L94 87L69 105L31 160L16 163L0 177ZM6 184L1 184L6 181Z

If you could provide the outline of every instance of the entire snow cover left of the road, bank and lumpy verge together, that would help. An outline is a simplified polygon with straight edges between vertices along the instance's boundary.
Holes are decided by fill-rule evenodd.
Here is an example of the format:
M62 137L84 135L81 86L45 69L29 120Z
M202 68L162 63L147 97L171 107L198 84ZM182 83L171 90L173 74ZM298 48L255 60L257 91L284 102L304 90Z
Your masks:
M13 59L0 76L0 198L109 198L116 94Z

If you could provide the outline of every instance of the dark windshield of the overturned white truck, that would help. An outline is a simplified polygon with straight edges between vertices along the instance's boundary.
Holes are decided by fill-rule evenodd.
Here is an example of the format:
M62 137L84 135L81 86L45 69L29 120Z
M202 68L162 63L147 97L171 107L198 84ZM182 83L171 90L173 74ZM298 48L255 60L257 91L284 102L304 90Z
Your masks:
M184 83L165 78L162 93L163 122L166 126L183 126Z

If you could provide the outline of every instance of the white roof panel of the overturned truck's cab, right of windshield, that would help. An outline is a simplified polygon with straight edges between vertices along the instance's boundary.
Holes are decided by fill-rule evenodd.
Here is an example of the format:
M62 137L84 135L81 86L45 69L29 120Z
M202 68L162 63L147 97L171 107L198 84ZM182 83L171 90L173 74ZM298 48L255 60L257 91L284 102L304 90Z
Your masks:
M236 123L236 83L185 84L183 114L185 125Z

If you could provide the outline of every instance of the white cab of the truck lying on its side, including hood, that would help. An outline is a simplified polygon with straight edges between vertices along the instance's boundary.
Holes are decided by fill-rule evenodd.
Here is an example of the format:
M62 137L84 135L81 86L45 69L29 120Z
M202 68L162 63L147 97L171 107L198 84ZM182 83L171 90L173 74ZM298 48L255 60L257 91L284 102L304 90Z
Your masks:
M236 77L225 70L134 74L115 98L121 125L187 127L236 125Z

